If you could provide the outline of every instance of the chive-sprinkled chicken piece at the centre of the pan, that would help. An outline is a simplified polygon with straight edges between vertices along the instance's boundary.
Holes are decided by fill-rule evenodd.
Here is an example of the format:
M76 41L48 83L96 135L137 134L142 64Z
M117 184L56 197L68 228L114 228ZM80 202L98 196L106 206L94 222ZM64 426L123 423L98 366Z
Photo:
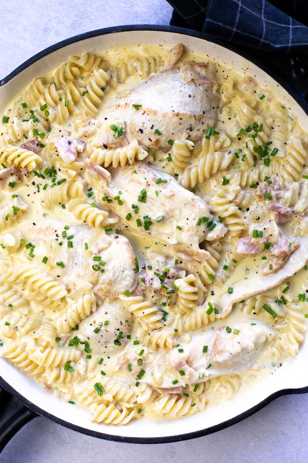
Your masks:
M210 257L207 251L199 248L199 243L214 239L213 232L225 235L226 227L216 222L206 226L215 218L210 215L205 201L182 188L171 175L143 163L109 171L108 184L94 170L87 170L87 180L104 208L120 216L137 234L178 245L179 250L187 251L197 260ZM119 191L120 204L114 199L119 198Z

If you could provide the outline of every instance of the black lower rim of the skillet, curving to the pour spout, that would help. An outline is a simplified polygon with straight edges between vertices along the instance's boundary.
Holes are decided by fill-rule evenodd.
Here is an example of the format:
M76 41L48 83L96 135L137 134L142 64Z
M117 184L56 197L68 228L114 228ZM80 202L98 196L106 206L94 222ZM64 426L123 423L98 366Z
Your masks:
M3 378L0 377L0 386L12 394L16 399L26 405L32 412L37 415L44 416L50 421L54 421L57 424L61 424L66 428L71 429L72 431L80 432L91 437L98 437L99 439L110 440L114 442L127 442L127 443L140 443L140 444L160 444L160 443L170 443L170 442L179 442L182 440L196 439L197 437L207 436L208 434L216 433L217 431L222 431L223 429L232 426L233 424L239 423L240 421L248 418L249 416L254 415L256 412L259 412L265 405L268 405L273 400L278 397L285 396L287 394L304 394L308 393L308 386L300 387L298 389L281 389L276 391L274 394L268 396L266 399L259 402L257 405L249 408L240 415L231 418L230 420L224 421L215 426L210 426L210 428L205 428L200 431L194 431L186 434L178 434L175 436L166 436L166 437L125 437L125 436L113 436L111 434L100 433L98 431L92 431L90 429L81 428L81 426L76 426L75 424L69 423L68 421L62 420L50 413L46 412L43 408L38 407L34 403L26 399L22 394L16 391L9 383L7 383Z

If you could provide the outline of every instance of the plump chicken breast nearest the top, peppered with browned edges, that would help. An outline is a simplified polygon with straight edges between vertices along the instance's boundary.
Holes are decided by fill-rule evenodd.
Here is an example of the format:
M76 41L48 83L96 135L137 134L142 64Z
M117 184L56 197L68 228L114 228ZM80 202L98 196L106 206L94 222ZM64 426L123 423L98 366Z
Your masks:
M98 136L91 143L112 147L137 138L141 145L163 148L169 147L168 140L182 138L184 133L191 141L200 139L217 122L212 72L209 64L186 63L152 75L93 122ZM112 124L123 131L115 135Z

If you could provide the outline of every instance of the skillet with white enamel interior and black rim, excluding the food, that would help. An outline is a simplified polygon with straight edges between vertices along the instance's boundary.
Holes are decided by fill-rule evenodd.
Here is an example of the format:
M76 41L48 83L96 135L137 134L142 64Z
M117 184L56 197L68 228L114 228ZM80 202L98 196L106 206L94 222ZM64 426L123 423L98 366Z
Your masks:
M44 75L66 61L70 55L102 51L114 46L137 44L174 46L181 42L189 50L215 57L256 77L290 106L308 131L308 105L303 92L305 75L297 60L287 68L293 85L283 80L258 55L206 37L189 29L166 26L119 26L76 35L57 43L18 66L0 81L0 108L3 108L34 77ZM293 60L293 61L292 61ZM301 93L295 88L300 88ZM285 394L308 392L306 341L296 359L285 362L273 375L260 381L254 389L217 408L180 420L134 421L126 426L92 423L89 414L78 407L48 394L33 380L0 357L0 451L28 421L41 415L74 431L107 440L131 443L164 443L196 438L222 430L257 412L275 398Z

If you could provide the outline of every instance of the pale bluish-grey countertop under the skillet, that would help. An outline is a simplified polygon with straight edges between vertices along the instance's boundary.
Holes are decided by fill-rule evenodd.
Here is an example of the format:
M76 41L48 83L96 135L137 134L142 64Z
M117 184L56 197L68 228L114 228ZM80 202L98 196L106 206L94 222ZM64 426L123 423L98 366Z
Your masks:
M0 0L0 78L36 52L72 35L123 24L168 24L164 0ZM307 408L306 408L307 406ZM191 441L145 445L84 436L35 418L8 443L2 463L307 461L308 396L284 396L231 428ZM206 423L204 423L206 427ZM187 430L189 431L189 430Z

